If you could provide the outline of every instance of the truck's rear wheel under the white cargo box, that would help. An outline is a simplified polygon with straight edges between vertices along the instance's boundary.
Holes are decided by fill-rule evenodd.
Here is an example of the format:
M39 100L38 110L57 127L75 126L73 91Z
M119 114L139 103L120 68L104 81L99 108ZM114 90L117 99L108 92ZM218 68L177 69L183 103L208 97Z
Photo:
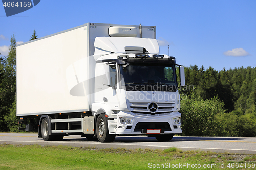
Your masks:
M53 136L53 135L49 135L49 124L48 124L48 120L46 118L42 119L42 123L41 123L41 134L42 134L42 139L44 139L45 141L59 141L63 139L63 135L57 135L57 136Z

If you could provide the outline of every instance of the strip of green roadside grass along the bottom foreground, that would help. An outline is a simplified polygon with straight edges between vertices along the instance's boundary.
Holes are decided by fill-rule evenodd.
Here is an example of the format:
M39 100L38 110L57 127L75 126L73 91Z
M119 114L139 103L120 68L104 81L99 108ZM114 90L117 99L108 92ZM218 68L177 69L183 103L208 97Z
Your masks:
M182 169L195 169L195 164L211 166L197 169L213 169L214 165L217 167L214 169L230 169L228 163L231 166L231 163L238 162L242 165L255 163L256 156L177 148L127 150L0 144L0 169L181 169L177 166L185 164ZM225 168L220 168L223 163ZM172 168L172 165L177 168Z

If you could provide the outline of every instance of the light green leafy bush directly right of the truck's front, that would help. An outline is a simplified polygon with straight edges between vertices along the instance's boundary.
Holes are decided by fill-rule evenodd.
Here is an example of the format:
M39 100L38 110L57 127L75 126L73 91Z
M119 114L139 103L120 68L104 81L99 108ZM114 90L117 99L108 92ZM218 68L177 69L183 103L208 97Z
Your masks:
M194 93L181 100L182 132L185 136L218 136L221 124L217 117L225 113L218 98L203 100Z

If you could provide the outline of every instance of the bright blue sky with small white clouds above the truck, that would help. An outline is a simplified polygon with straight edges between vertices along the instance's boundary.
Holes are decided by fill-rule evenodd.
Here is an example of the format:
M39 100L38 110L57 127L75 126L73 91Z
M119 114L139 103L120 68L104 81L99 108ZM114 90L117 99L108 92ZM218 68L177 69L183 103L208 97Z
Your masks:
M156 26L160 53L177 63L212 66L220 71L256 67L256 1L86 1L41 0L35 7L6 17L0 6L0 53L10 37L29 41L87 22Z

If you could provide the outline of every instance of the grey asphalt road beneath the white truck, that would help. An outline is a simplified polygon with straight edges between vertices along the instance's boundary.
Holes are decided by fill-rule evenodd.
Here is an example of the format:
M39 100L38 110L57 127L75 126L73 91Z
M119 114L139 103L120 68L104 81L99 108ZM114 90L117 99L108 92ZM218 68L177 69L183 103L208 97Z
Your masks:
M256 154L256 137L176 137L168 142L158 142L154 137L117 136L112 143L88 141L80 135L65 136L62 141L44 141L32 133L0 133L0 144L69 145L73 147L203 150L219 153Z

